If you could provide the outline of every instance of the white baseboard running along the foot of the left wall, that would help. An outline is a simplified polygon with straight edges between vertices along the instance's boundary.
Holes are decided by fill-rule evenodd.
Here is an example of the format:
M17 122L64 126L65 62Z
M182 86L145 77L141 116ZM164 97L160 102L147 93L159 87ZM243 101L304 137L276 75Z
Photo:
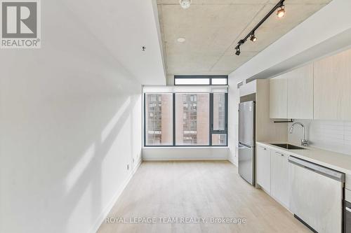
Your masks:
M119 188L119 190L117 190L116 195L114 195L111 202L106 206L105 210L102 211L102 213L100 213L98 220L95 221L95 223L94 223L93 227L91 227L91 230L89 231L89 233L96 233L98 231L100 225L104 222L105 218L112 210L114 204L116 204L116 202L119 199L119 197L121 196L123 190L126 188L126 185L128 185L129 181L131 181L131 178L133 177L135 172L138 170L138 168L140 167L140 164L142 162L143 162L143 160L140 157L138 164L135 166L135 168L133 169L131 174L128 176L128 178L126 178L126 181L124 181L124 183L121 185L121 188Z

